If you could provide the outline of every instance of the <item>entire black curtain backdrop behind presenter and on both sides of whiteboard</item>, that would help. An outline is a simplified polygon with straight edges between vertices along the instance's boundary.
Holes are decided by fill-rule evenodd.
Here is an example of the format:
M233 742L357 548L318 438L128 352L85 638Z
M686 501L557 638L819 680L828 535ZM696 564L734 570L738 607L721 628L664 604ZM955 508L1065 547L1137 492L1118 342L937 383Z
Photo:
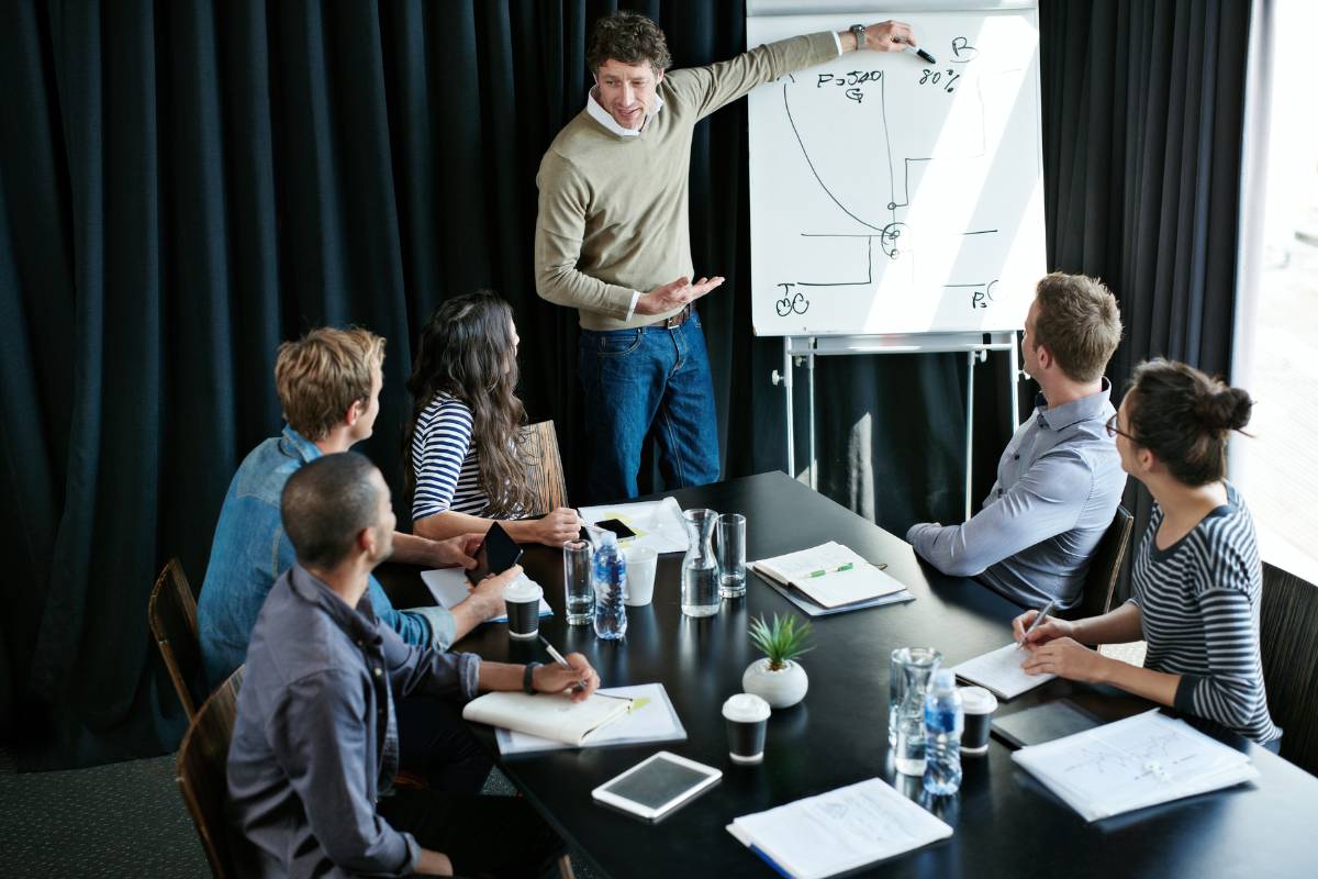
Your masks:
M0 5L0 726L24 766L177 742L146 597L174 555L200 585L235 468L278 431L283 339L348 323L389 339L362 451L397 490L415 332L445 297L497 289L523 399L555 419L580 497L590 414L575 315L534 293L534 178L584 104L588 26L616 5ZM677 65L745 47L742 3L622 5L659 21ZM1220 59L1235 78L1202 53L1246 5L1041 9L1049 253L1122 297L1118 380L1151 352L1213 368L1206 352L1230 351L1213 315L1230 318L1244 40ZM729 279L701 306L726 477L786 465L782 344L750 331L745 123L745 104L702 123L691 165L696 270ZM821 489L898 532L957 521L963 373L954 356L821 361ZM1004 357L979 368L977 497L1007 380Z

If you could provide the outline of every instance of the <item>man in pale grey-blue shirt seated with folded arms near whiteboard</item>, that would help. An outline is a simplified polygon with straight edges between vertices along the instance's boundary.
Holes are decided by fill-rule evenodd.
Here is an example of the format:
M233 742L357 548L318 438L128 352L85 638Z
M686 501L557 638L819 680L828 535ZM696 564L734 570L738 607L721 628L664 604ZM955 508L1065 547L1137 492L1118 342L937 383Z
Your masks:
M1079 604L1089 559L1126 489L1103 377L1122 340L1116 298L1085 275L1039 282L1021 336L1041 393L998 461L998 481L965 525L915 525L907 540L944 573L973 576L1024 608Z

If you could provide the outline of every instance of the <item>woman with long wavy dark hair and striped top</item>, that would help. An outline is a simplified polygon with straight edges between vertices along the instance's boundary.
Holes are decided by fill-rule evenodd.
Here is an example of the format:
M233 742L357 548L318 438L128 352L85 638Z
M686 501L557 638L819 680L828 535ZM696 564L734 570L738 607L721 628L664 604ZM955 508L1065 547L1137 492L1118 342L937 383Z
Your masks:
M521 543L559 547L576 539L576 510L519 518L536 510L522 448L518 341L513 308L484 290L448 299L422 329L407 381L413 419L403 431L416 534L484 534L500 519Z

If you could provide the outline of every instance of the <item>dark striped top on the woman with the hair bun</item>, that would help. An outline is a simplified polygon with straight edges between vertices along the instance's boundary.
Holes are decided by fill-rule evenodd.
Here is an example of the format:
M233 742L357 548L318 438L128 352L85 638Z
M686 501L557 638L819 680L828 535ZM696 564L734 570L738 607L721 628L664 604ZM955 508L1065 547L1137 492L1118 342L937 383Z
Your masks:
M1280 738L1259 656L1263 568L1240 493L1227 484L1227 503L1166 550L1153 544L1161 523L1155 503L1132 571L1131 601L1148 642L1144 667L1181 676L1177 710L1256 742Z

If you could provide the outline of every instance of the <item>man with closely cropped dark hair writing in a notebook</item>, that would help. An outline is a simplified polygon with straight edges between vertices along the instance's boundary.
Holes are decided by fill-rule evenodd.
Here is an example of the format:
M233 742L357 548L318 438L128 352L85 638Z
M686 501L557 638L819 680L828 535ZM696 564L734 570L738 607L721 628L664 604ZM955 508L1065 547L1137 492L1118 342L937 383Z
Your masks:
M540 875L563 845L526 800L390 789L394 704L517 689L583 700L594 669L580 654L567 668L482 663L409 647L384 626L365 594L394 514L360 455L301 468L282 514L297 564L252 630L228 755L229 814L248 842L239 875Z

